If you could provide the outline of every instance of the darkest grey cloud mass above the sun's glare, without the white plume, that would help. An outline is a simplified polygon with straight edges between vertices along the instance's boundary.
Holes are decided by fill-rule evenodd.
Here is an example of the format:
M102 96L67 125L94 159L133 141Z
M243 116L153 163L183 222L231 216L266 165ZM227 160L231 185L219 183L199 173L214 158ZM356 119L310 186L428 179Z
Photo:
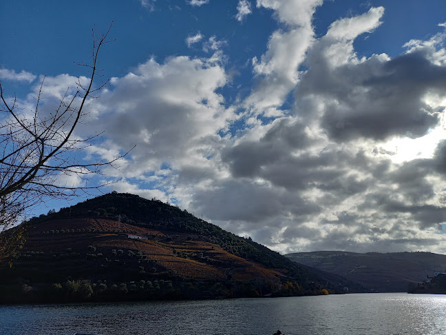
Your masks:
M429 61L429 54L373 56L337 67L318 56L309 58L310 69L297 94L300 98L317 94L324 101L321 125L332 139L418 137L438 123L438 110L423 97L446 88L446 67Z

